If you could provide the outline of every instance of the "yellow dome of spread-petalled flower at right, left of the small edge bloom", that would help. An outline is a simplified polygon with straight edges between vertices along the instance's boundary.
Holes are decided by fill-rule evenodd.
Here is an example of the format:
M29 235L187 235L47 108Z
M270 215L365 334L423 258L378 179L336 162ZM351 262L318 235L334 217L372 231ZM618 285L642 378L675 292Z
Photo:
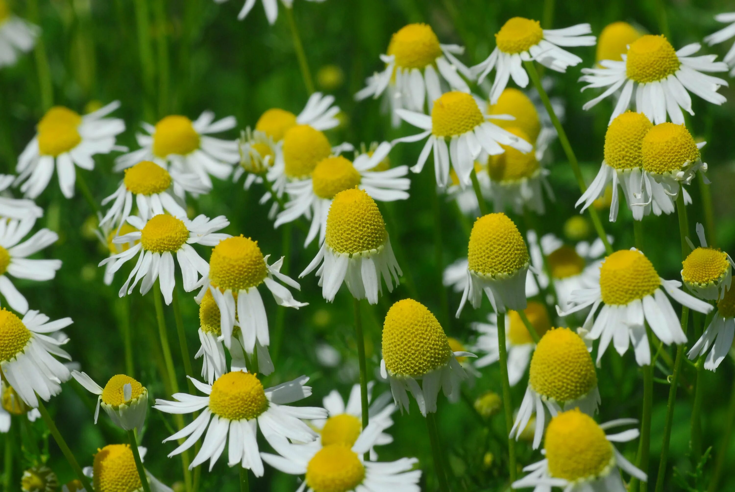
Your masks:
M622 249L605 258L600 267L602 300L611 306L651 296L661 285L656 268L637 250Z

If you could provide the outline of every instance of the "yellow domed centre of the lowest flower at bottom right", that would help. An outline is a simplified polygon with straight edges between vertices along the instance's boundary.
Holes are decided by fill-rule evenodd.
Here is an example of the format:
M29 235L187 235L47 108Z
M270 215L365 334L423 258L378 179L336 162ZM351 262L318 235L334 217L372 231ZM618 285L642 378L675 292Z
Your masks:
M544 448L551 477L570 482L605 476L614 462L612 444L603 429L578 409L551 419Z

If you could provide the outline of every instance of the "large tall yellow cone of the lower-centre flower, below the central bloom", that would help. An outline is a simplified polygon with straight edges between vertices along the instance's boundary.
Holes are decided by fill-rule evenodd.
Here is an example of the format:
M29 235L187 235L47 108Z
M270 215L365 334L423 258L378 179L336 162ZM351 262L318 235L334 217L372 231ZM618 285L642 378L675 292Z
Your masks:
M383 359L392 374L423 376L446 366L451 354L442 325L426 306L404 299L390 307L383 324Z

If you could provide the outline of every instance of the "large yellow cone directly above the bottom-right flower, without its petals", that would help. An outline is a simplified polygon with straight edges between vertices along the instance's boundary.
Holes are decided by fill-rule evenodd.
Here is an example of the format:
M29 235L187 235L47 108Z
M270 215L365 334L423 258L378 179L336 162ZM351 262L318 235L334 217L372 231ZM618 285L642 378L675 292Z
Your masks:
M545 333L531 357L528 385L555 402L580 399L597 386L597 374L584 340L569 328Z

